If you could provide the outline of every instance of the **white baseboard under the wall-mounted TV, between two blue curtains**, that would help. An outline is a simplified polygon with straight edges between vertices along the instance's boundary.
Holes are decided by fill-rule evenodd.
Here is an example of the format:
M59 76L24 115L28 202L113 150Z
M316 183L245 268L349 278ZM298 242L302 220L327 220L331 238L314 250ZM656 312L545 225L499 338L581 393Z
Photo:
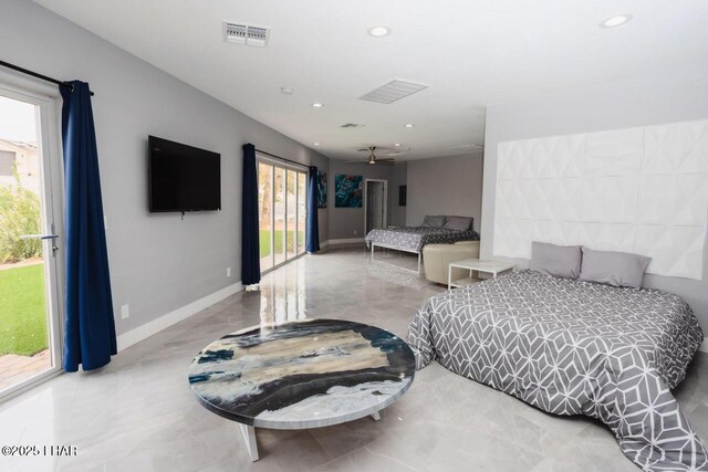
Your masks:
M185 305L181 308L177 308L174 312L167 313L166 315L163 315L157 319L147 322L144 325L136 327L135 329L131 329L129 332L122 334L117 337L118 352L126 349L134 344L139 343L140 340L147 339L148 337L162 332L163 329L166 329L174 324L187 319L188 317L201 312L205 308L208 308L215 303L219 303L223 298L231 296L242 290L243 285L241 284L241 282L237 282L233 285L229 285L226 289L214 292L212 294L207 295L204 298L191 302L189 305Z

